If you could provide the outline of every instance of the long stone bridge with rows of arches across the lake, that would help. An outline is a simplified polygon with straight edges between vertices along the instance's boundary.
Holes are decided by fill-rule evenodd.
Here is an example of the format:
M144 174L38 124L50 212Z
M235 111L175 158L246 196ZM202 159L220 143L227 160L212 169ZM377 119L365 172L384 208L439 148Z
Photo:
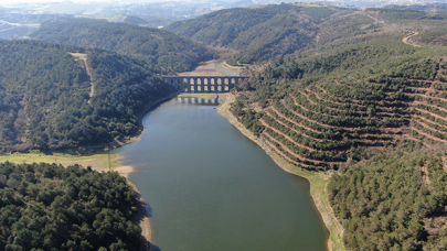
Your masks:
M181 92L227 92L249 76L161 76Z

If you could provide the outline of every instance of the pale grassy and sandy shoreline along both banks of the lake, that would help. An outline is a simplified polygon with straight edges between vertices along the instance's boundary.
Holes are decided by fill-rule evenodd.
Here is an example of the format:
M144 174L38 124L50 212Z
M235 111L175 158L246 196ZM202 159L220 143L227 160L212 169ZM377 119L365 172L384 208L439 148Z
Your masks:
M179 95L179 92L174 92L174 94L171 94L169 96L166 96L163 98L160 98L156 101L148 103L146 106L146 108L140 113L138 113L138 118L140 119L141 123L142 123L142 119L145 118L145 116L149 111L151 111L157 105L159 105L163 101L167 101L173 97L177 97L178 95ZM319 214L323 220L326 229L329 231L329 238L327 240L328 250L329 251L345 250L344 245L342 243L343 229L342 229L341 225L338 222L338 220L332 211L332 208L330 207L328 197L327 197L326 185L331 176L331 173L329 173L329 172L316 173L316 172L305 171L305 170L296 167L296 166L289 164L288 162L286 162L285 160L283 160L279 155L277 155L275 152L273 152L266 144L260 142L251 131L248 131L241 122L238 122L237 119L230 112L230 110L228 110L230 105L235 100L235 97L232 94L225 94L225 95L222 94L221 98L222 98L222 103L217 106L217 109L219 109L220 113L228 120L230 123L232 123L246 138L248 138L253 142L255 142L257 145L259 145L274 160L274 162L280 168L283 168L284 171L286 171L290 174L306 178L309 182L310 195L312 197L313 205L317 208L317 210L319 211ZM98 172L114 171L114 172L118 172L119 175L125 177L127 179L128 184L138 194L139 205L137 207L138 214L136 216L136 219L139 219L139 226L141 227L141 238L145 239L146 244L145 244L143 250L150 250L152 229L150 226L149 216L147 214L146 203L142 199L141 194L139 193L138 188L128 178L129 174L135 172L135 168L132 166L121 165L119 163L120 154L114 154L111 156L111 159L110 159L109 154L106 154L106 152L111 149L120 148L126 144L138 141L142 134L142 132L143 132L143 130L141 130L138 134L132 135L130 140L121 142L123 144L111 145L111 143L114 143L114 142L110 142L104 146L105 150L103 150L103 152L97 151L97 149L95 149L95 151L89 152L89 154L92 154L92 155L87 154L87 155L83 155L83 156L72 156L68 160L61 160L62 157L57 155L56 157L58 157L60 161L55 161L55 162L58 162L63 165L70 165L70 164L73 164L74 162L79 163L83 166L96 165L96 168L95 167L93 167L93 168ZM110 146L111 146L111 149L110 149ZM40 156L40 153L31 154L31 155L38 155L38 154ZM108 157L100 156L102 154L108 155ZM29 154L26 154L26 155L29 155ZM92 160L89 160L89 159L94 159L95 156L98 157L97 161L99 161L100 164L104 165L103 162L107 162L107 165L102 166L102 165L97 165L96 163L91 163ZM54 156L52 156L52 157L54 157ZM30 159L31 159L31 156L30 156ZM32 159L34 159L34 157L32 157ZM85 159L85 162L83 163L83 160L79 160L79 159ZM18 157L17 161L12 161L12 162L21 163L22 161L19 161L19 160L22 160L22 156ZM50 160L42 160L42 162L46 162L46 161L49 163L53 162ZM67 162L67 161L70 161L70 162Z

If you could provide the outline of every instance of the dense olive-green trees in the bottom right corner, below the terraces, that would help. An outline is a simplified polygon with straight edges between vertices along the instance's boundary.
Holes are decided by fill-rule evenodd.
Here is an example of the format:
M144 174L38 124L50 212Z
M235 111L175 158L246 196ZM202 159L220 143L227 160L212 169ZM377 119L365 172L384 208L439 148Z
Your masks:
M443 159L387 151L334 174L329 200L343 225L347 249L445 250Z

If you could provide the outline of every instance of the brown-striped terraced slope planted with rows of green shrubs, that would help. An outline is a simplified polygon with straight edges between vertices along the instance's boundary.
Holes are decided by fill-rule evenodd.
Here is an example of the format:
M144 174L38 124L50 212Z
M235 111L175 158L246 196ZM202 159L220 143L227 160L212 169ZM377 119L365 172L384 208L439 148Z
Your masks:
M251 103L256 111L238 110L236 105L233 111L243 121L246 113L256 112L256 133L290 163L337 168L340 162L360 160L365 148L402 140L428 148L447 143L445 68L440 59L426 59L368 79L295 85L269 98L265 108Z

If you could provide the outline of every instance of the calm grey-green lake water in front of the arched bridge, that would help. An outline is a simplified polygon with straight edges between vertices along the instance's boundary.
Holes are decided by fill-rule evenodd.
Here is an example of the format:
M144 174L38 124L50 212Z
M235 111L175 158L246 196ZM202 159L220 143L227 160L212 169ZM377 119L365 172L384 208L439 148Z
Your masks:
M211 100L174 98L143 119L121 164L149 205L162 251L326 250L309 183L280 170ZM157 250L156 247L156 250Z

